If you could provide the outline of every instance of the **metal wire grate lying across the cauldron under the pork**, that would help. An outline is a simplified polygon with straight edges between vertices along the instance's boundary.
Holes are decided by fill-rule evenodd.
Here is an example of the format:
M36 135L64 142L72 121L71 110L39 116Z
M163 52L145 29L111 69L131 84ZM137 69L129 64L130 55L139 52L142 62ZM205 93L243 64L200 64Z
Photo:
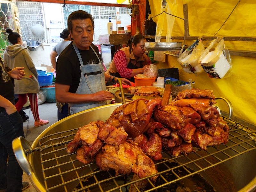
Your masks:
M174 182L203 173L221 165L236 156L255 150L256 131L223 117L230 128L226 145L208 147L207 151L196 150L187 156L173 157L163 152L163 158L155 165L158 179L152 183L149 178L139 179L135 174L118 175L115 172L100 171L94 163L84 165L76 160L76 153L67 154L67 143L74 138L78 128L48 135L39 140L41 163L47 191L157 191ZM56 145L56 143L64 145ZM255 152L254 152L255 153ZM213 172L213 174L217 174ZM172 179L170 179L172 175ZM67 179L68 178L68 179ZM85 181L85 182L84 182ZM74 189L76 186L76 190ZM142 187L144 186L144 187ZM146 187L145 187L146 186Z

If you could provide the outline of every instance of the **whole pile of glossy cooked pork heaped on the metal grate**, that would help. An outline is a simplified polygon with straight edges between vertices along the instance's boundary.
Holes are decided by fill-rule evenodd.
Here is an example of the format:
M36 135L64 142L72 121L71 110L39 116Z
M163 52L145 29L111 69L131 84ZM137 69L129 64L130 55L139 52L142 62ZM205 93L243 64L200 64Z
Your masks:
M76 152L84 164L96 159L101 170L116 175L150 176L157 173L154 162L162 150L187 155L194 148L228 142L228 125L212 107L215 103L211 90L198 89L179 92L167 106L159 99L133 100L117 107L106 122L79 128L67 152Z

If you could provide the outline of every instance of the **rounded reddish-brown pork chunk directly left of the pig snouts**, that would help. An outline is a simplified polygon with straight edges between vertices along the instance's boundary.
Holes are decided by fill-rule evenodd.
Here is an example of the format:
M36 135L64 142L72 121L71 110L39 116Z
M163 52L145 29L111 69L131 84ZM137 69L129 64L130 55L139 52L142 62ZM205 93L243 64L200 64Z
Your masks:
M166 127L179 130L184 127L184 117L177 106L162 106L157 108L154 113L155 120L166 125Z

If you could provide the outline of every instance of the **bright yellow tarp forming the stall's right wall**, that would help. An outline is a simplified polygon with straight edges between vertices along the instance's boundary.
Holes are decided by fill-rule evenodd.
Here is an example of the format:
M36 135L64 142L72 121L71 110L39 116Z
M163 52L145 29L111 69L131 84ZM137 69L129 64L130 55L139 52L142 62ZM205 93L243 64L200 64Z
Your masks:
M167 4L170 3L169 1L173 2L173 0L167 0ZM255 37L256 4L251 0L243 0L239 3L238 1L176 0L176 3L178 3L176 16L184 18L183 4L188 4L190 36ZM232 12L237 3L236 9ZM149 4L152 17L161 13L162 0L149 0ZM231 12L232 14L228 18ZM157 19L157 17L153 18L155 22L157 22ZM225 20L227 21L223 25ZM166 36L166 29L166 27L163 28L162 36ZM219 32L217 33L218 30ZM175 19L172 36L184 36L183 20ZM186 45L191 45L193 42L194 40L186 41ZM208 41L203 43L205 47L210 44ZM256 42L225 41L225 45L229 50L255 51L256 48ZM231 60L233 74L228 78L215 79L208 77L206 73L198 73L195 76L184 72L177 62L177 57L168 55L168 65L170 68L179 68L180 80L188 81L188 79L192 78L195 81L195 88L211 89L215 96L227 98L233 105L234 116L256 124L256 75L254 72L256 58L231 56ZM217 100L217 102L221 110L228 112L228 107L224 101Z

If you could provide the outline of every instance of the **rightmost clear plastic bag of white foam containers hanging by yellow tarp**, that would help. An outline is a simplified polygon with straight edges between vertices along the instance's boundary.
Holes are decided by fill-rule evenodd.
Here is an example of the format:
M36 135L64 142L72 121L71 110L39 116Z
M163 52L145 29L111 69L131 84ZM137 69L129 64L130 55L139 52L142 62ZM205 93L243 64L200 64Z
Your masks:
M201 55L200 63L209 77L223 79L232 75L232 63L229 51L225 49L224 39L221 38L220 41L217 39L209 45L213 46L219 42L214 51L209 52L212 47L207 47L204 54Z

